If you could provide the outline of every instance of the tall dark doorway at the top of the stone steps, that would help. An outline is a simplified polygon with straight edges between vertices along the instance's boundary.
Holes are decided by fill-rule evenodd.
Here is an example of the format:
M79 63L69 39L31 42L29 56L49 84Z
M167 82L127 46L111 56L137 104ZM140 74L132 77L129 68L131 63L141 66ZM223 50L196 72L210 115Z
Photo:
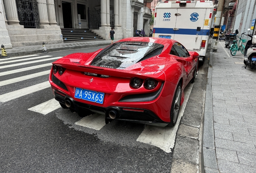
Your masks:
M71 3L62 2L62 14L64 28L72 28Z

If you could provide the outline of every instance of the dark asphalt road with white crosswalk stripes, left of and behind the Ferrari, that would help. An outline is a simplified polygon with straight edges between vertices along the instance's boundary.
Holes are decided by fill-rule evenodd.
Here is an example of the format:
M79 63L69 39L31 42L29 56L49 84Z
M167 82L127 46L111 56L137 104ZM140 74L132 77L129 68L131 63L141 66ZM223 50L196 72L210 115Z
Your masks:
M0 61L0 172L170 172L172 152L137 141L144 125L112 121L95 130L77 125L81 117L68 109L58 108L45 115L29 110L54 99L50 87L37 91L28 88L48 81L49 74L26 79L27 75L51 68L34 66L54 62L48 58L104 47L38 54L49 57L31 56L32 59L23 61ZM26 58L30 57L13 60ZM31 61L34 62L29 64ZM14 78L17 80L10 81Z

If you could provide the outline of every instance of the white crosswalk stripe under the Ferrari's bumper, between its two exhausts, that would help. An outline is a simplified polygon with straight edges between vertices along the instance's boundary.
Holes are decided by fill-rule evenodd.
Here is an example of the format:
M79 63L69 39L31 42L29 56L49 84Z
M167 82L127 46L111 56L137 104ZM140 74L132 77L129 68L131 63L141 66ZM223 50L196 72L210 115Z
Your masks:
M84 117L80 121L77 121L75 124L88 127L90 129L100 130L102 127L104 127L104 125L106 125L105 115L95 113L93 115Z

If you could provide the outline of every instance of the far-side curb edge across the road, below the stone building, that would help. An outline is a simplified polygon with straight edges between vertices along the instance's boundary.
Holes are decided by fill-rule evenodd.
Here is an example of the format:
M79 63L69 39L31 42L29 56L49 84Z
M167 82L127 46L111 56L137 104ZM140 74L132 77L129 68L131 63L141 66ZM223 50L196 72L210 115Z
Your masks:
M49 46L48 44L47 46ZM89 48L89 47L97 47L97 46L108 46L109 43L101 43L101 44L87 44L87 45L81 45L81 46L68 46L68 47L59 47L59 48L47 48L47 52L55 52L60 50L72 50L72 49L79 49L79 48ZM27 55L27 54L38 54L42 53L42 49L37 50L29 50L29 51L21 51L21 52L9 52L8 56L21 56L21 55Z

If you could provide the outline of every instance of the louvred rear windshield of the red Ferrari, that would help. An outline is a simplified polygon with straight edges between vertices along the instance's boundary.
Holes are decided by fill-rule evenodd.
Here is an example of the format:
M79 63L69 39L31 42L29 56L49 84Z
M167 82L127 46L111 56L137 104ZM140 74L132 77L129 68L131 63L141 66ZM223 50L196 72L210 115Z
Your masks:
M91 62L93 66L124 69L159 55L163 44L153 42L116 42L103 49Z

